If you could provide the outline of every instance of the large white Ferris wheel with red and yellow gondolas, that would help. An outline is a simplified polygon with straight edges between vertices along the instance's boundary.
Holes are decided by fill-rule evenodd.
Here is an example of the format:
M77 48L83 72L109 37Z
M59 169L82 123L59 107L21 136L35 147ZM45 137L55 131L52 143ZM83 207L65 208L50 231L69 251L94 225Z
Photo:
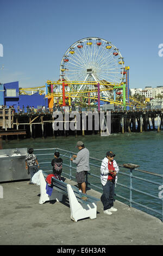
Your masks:
M124 60L118 48L111 42L97 37L75 42L65 52L60 64L61 81L120 84L124 80L124 74ZM95 89L95 85L83 83L73 86L77 92L88 88ZM104 92L104 95L110 96L110 92Z

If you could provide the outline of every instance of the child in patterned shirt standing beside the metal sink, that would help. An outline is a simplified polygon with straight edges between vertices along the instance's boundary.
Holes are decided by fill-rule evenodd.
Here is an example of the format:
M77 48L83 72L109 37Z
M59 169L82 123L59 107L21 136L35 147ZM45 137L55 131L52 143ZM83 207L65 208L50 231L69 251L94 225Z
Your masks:
M32 177L39 170L39 163L37 157L33 154L34 149L28 149L28 155L26 156L26 169L28 169L28 174L30 174L29 184L33 184Z

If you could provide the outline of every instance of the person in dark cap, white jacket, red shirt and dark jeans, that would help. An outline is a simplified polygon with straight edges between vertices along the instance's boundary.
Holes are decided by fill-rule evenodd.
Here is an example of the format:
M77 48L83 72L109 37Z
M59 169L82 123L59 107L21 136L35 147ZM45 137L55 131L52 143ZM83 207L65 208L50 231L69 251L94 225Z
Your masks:
M104 206L104 214L111 215L112 211L117 211L113 207L114 204L114 190L117 182L117 173L119 167L114 160L115 154L112 151L106 153L106 157L101 164L101 182L103 186L103 194L101 201Z

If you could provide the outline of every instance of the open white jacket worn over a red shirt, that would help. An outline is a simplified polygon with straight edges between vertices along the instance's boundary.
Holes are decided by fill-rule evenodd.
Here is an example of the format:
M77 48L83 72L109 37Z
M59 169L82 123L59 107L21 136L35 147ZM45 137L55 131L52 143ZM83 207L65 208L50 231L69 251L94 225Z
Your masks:
M107 180L108 180L108 175L109 175L109 169L108 169L108 158L105 157L103 160L102 160L102 163L101 163L101 182L102 182L102 185L105 186ZM116 170L116 172L118 173L118 170L119 170L119 167L116 163L115 160L113 160L113 166ZM116 174L116 178L115 178L115 186L116 186L116 183L117 183L117 174Z

